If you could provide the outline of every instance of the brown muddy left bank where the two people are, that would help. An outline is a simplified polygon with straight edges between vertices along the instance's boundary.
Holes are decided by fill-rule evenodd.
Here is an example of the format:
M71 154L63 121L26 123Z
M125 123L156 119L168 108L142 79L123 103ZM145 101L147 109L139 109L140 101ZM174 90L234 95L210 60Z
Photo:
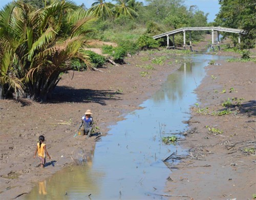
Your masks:
M180 66L174 57L169 57L164 65L152 64L153 58L154 55L140 53L127 59L124 65L104 66L101 68L104 73L75 71L73 74L72 71L64 74L52 101L47 104L29 99L0 101L1 199L28 193L38 181L74 164L79 152L83 152L84 157L90 156L96 136L88 140L74 137L82 115L91 109L97 131L104 135L111 124L121 120L127 112L138 109L167 75ZM174 64L169 65L170 62ZM145 69L143 66L147 64L155 69ZM36 168L38 160L33 159L41 134L46 137L51 156L43 169Z

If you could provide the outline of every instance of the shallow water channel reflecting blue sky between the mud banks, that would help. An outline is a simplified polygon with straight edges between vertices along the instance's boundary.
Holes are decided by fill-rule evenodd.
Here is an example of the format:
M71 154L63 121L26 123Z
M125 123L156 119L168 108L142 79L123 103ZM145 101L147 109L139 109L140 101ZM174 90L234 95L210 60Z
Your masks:
M195 55L186 58L150 99L110 127L96 143L93 158L82 166L66 168L39 182L26 199L163 199L171 171L162 162L179 145L165 145L162 137L188 129L189 108L197 101L194 90L205 76L210 60L227 57ZM181 136L178 136L181 137Z

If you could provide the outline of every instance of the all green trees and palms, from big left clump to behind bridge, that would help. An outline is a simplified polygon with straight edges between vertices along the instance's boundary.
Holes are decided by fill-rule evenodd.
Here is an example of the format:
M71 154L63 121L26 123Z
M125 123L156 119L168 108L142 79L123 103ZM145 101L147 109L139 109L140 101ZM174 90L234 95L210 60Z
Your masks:
M116 62L140 49L157 48L153 35L182 27L205 27L208 14L182 0L95 1L91 8L65 0L18 0L0 10L0 98L29 97L45 102L61 74L99 67L104 57L86 50L93 40L115 42L103 53ZM216 26L241 28L243 46L254 46L255 3L220 0ZM226 36L226 35L224 35ZM202 38L201 32L192 34ZM232 35L231 35L232 37ZM183 36L176 36L176 45Z

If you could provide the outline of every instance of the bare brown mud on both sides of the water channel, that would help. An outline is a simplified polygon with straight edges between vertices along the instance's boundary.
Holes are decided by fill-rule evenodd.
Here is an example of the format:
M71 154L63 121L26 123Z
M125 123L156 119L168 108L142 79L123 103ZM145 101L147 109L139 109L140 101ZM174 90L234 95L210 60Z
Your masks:
M88 140L84 136L74 137L87 109L92 110L96 126L105 135L111 124L138 109L140 103L157 91L167 75L179 67L179 64L167 67L170 61L175 63L173 57L166 65L154 65L156 70L141 77L139 72L146 70L136 65L150 64L151 60L141 59L147 57L153 59L154 55L140 53L128 58L124 65L106 65L102 68L105 73L64 74L52 101L47 104L29 99L0 101L0 198L11 199L29 192L34 182L73 164L78 152L90 156L97 136ZM189 156L169 174L171 179L166 181L169 194L194 199L250 199L256 193L255 157L244 151L249 147L255 149L255 64L221 64L207 67L207 76L196 91L200 107L209 107L211 113L223 109L221 103L228 97L244 99L241 106L231 108L230 115L212 116L199 114L198 108L191 109L193 116L189 124L194 131L180 142L190 150ZM212 79L212 75L217 78ZM230 88L234 91L229 93ZM222 93L223 89L226 93ZM209 133L205 126L218 128L223 133ZM33 159L41 134L46 136L52 157L42 169L34 167L38 160Z

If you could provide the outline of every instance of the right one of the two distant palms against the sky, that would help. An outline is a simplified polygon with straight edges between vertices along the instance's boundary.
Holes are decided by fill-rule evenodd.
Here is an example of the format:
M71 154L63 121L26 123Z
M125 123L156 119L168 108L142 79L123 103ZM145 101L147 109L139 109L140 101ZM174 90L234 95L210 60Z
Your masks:
M133 2L133 0L127 1L127 0L113 0L117 2L116 5L116 17L119 17L120 15L130 16L131 18L134 18L134 16L138 16L138 13L129 7L129 4Z

